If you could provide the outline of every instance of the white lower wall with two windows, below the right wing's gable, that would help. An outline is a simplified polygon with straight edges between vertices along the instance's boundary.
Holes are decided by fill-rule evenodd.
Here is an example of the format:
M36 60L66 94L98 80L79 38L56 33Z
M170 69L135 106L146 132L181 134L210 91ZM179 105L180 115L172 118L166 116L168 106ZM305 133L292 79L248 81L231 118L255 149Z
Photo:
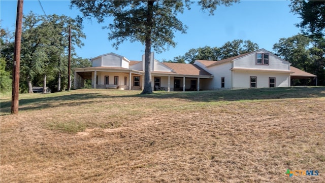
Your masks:
M257 88L268 88L269 78L275 78L275 87L288 87L289 74L276 72L233 71L233 89L250 88L250 77L257 77Z

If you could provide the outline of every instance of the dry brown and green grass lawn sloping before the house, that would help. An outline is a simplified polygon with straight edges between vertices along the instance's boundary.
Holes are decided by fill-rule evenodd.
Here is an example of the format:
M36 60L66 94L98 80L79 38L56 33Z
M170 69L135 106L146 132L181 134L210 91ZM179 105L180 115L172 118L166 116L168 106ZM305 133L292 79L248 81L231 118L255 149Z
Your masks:
M325 182L325 87L139 93L1 96L0 181Z

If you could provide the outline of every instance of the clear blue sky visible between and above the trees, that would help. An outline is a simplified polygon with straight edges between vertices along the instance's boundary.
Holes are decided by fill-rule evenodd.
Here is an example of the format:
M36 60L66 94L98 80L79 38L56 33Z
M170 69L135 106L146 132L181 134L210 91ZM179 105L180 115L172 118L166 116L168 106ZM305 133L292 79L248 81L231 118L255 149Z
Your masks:
M75 18L81 15L79 10L70 9L70 1L41 1L47 15L57 14ZM185 10L178 18L188 26L187 33L175 32L175 48L163 53L155 53L157 60L173 59L184 55L191 48L204 46L220 47L225 42L236 39L250 40L259 48L272 51L272 47L280 38L289 38L300 32L295 26L301 19L290 12L289 1L241 1L231 7L220 6L214 16L202 12L197 4L191 10ZM0 1L1 27L15 30L17 1ZM24 1L23 12L30 11L44 15L38 1ZM93 58L105 53L114 52L129 60L141 60L145 46L140 43L125 41L118 50L111 45L114 41L107 39L108 29L102 29L111 21L99 24L95 19L84 21L84 33L87 38L82 48L77 48L77 55L83 58Z

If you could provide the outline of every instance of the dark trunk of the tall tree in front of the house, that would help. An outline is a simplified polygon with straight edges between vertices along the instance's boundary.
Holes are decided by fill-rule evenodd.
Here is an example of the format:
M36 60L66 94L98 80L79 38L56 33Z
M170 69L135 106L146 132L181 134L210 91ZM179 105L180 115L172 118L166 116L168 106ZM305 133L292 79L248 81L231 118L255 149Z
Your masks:
M151 72L150 72L150 60L151 60L151 27L152 27L152 17L153 17L153 3L155 1L148 1L148 14L147 14L147 29L146 35L146 49L145 49L145 65L144 65L144 87L141 94L151 94Z

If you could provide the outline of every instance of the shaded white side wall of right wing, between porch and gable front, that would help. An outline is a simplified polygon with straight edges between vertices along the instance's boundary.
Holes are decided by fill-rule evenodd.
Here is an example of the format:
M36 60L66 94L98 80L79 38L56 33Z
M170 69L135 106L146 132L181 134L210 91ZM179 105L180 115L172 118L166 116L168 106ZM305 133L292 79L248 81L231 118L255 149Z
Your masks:
M222 64L207 67L207 71L210 72L214 77L209 83L209 90L216 90L221 88L221 78L224 77L224 88L232 88L232 68L231 62L225 62ZM203 88L202 88L203 89Z

